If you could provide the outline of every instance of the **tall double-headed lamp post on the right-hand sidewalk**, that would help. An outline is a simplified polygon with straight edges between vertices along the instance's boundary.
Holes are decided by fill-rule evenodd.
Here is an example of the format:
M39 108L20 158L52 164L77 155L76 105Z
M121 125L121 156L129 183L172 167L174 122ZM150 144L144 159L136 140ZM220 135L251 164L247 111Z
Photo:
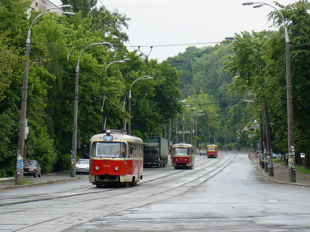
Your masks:
M288 143L288 155L289 160L289 182L296 182L296 170L295 170L295 145L294 145L294 122L293 122L293 97L292 97L292 81L291 81L291 68L290 68L290 37L287 33L286 21L284 20L281 12L274 6L263 2L244 2L242 5L252 5L260 3L259 5L253 6L253 8L268 5L275 9L282 17L284 24L285 33L285 48L286 48L286 101L287 101L287 143Z

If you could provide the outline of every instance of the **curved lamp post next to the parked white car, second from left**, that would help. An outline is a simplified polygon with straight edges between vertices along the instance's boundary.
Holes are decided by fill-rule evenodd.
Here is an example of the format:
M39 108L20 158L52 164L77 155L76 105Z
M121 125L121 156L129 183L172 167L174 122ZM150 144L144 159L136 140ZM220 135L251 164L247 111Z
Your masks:
M74 94L74 109L73 109L73 132L72 132L72 150L71 150L71 177L75 177L75 163L77 157L77 130L78 130L78 80L80 76L80 58L82 53L86 50L86 48L91 47L93 45L105 45L108 47L112 47L113 44L109 42L101 42L101 43L92 43L84 48L78 57L77 67L75 69L75 94Z

